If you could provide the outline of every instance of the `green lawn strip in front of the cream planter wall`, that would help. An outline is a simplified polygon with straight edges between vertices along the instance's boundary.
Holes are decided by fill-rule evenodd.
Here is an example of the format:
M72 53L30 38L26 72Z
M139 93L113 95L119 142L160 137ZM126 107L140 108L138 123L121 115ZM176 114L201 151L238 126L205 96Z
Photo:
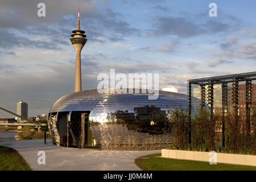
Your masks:
M161 154L141 156L135 159L135 164L146 171L256 171L254 166L222 163L210 165L208 162L168 159L159 156Z

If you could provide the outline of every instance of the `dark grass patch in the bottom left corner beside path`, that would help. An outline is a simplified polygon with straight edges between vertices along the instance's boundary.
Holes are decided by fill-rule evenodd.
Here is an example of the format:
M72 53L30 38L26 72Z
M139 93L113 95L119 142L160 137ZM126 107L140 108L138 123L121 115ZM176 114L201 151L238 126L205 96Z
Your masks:
M31 168L16 150L0 146L0 171L31 171Z

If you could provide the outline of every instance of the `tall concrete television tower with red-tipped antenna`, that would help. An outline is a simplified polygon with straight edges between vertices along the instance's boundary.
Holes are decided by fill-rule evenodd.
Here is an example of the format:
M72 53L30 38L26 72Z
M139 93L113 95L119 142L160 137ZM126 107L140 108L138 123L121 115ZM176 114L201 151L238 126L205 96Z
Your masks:
M85 31L80 30L80 19L78 9L77 30L72 31L70 41L75 48L77 58L75 59L75 92L81 91L81 51L87 42Z

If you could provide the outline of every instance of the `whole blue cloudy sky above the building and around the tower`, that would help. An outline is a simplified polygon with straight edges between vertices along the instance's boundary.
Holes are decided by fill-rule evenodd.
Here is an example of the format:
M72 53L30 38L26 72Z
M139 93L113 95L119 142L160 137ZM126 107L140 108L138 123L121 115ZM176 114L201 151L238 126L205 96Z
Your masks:
M209 4L217 16L209 16ZM39 17L38 3L46 16ZM253 0L0 0L0 106L46 114L74 92L71 31L81 29L82 90L99 73L159 73L159 88L187 93L187 80L255 71ZM13 115L0 110L0 118Z

